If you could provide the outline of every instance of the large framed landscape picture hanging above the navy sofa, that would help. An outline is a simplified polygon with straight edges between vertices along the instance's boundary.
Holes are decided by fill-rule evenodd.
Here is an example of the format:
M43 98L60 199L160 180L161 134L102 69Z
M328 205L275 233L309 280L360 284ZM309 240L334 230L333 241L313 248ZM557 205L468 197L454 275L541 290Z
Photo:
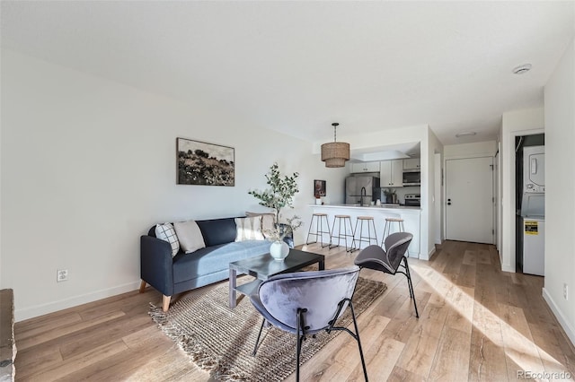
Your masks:
M234 148L176 139L177 184L234 187Z

